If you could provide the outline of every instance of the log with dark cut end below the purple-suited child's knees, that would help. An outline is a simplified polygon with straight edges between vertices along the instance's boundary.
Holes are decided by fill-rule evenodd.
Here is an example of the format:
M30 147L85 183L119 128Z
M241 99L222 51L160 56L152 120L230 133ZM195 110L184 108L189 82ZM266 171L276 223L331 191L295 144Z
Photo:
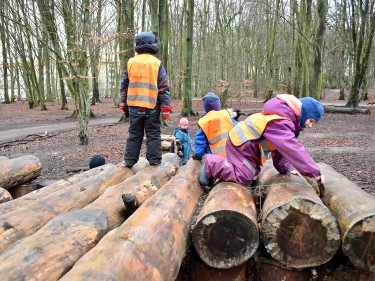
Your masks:
M232 268L250 259L259 245L256 207L245 187L221 182L209 193L192 233L200 258L215 268Z

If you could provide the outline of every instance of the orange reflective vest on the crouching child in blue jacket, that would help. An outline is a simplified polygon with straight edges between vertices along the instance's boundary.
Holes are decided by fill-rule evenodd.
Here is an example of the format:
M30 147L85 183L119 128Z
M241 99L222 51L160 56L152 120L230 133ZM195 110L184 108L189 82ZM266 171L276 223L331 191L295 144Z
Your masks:
M206 135L212 154L226 156L225 143L229 131L233 129L228 110L212 110L199 119L198 125Z

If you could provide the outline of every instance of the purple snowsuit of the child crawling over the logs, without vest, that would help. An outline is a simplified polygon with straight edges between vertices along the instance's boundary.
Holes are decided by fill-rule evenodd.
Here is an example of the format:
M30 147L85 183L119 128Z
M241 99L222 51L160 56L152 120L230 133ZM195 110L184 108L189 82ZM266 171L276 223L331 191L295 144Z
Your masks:
M279 173L285 174L294 168L303 176L318 177L319 167L304 146L297 140L300 118L282 100L272 98L263 106L264 114L277 114L289 120L274 120L267 124L263 137L269 140L276 150L271 152L273 165ZM227 157L207 155L205 172L209 178L249 184L259 173L261 157L259 141L248 141L241 146L234 146L228 137L226 143Z

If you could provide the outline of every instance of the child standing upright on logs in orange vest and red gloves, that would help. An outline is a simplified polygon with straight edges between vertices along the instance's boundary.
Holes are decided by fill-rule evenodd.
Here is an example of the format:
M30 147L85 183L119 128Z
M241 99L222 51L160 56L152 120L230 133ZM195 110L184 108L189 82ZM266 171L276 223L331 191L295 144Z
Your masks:
M146 133L146 159L150 165L161 163L160 111L164 120L172 109L169 80L161 61L155 57L159 46L152 32L135 36L137 56L129 59L121 82L120 108L130 115L129 137L125 148L125 166L138 160Z

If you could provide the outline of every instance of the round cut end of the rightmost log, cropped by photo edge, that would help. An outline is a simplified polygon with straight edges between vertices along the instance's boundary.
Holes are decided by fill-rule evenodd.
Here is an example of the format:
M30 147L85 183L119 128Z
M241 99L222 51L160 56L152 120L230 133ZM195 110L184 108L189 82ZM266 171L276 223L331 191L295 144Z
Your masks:
M375 272L375 215L358 221L346 234L342 249L357 269Z

